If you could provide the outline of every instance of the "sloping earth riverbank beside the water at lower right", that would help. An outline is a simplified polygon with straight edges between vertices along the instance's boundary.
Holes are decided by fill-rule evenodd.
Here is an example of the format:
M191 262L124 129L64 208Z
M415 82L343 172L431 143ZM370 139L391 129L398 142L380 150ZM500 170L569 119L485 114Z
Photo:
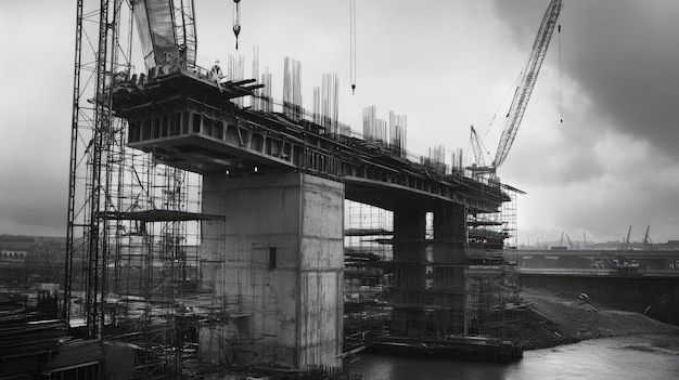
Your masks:
M546 349L601 337L639 333L679 335L679 327L645 315L613 310L586 297L567 298L545 289L522 288L525 310L515 339L525 350Z

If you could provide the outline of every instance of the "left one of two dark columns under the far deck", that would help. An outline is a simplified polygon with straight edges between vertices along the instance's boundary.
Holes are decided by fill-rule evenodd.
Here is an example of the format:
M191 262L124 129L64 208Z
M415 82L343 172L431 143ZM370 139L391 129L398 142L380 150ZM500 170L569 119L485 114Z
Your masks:
M399 336L420 336L426 330L425 228L426 210L407 204L394 210L394 310L392 329Z

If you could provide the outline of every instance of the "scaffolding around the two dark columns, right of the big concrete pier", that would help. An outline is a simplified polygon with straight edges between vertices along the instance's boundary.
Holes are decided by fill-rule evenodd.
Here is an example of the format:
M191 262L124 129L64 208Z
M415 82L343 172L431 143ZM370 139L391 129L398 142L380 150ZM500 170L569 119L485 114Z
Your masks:
M507 200L515 200L520 191L503 188L512 191ZM505 201L495 212L462 205L444 211L463 213L461 219L420 210L407 215L405 231L395 226L393 211L347 204L345 350L512 338L512 268L505 260L512 246L505 240L515 234L514 205Z

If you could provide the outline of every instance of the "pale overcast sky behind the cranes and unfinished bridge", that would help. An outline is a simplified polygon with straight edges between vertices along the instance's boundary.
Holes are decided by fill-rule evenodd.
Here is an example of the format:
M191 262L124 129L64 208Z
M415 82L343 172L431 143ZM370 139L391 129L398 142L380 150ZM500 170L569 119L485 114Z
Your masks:
M349 1L196 0L198 63L253 47L282 99L284 56L302 62L305 106L323 73L341 79L340 118L408 116L408 149L491 155L547 0L357 0L357 89L349 81ZM0 234L66 227L75 1L2 1ZM498 170L525 191L520 243L679 239L679 1L566 0L514 145ZM223 66L223 65L222 65ZM139 68L140 69L140 68ZM563 123L560 120L563 119ZM490 121L495 120L492 123ZM471 153L471 152L470 152Z

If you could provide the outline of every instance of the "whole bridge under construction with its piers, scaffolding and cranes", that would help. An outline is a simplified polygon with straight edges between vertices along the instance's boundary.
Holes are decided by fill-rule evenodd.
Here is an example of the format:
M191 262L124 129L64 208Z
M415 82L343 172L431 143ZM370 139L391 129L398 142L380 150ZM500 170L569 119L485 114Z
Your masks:
M443 146L414 157L406 116L387 122L375 107L357 133L337 121L335 75L303 107L292 58L282 102L257 54L248 77L235 56L226 75L202 67L193 1L87 3L62 306L74 336L103 346L85 378L336 374L366 349L521 357L505 307L521 191L495 176L507 152L471 171ZM514 121L560 9L550 3ZM85 374L74 368L50 374Z

